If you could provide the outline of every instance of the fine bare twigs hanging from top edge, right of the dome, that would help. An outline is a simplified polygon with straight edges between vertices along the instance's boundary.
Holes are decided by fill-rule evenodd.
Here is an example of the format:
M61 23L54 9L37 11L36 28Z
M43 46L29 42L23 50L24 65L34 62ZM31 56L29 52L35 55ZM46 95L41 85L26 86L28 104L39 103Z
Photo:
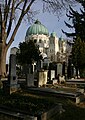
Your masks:
M67 10L69 5L75 5L76 0L42 0L44 3L44 12L62 14L62 10Z

